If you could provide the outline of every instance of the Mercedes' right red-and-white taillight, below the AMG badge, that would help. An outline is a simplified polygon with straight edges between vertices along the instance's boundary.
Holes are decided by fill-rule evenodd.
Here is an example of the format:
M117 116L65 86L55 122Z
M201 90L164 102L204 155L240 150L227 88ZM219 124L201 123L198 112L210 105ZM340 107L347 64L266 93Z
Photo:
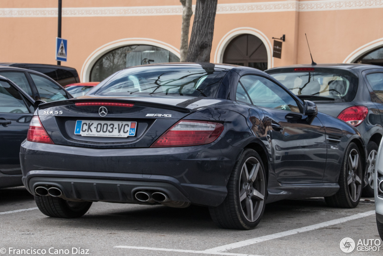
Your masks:
M182 120L151 145L151 147L180 147L203 145L213 142L223 131L223 124Z

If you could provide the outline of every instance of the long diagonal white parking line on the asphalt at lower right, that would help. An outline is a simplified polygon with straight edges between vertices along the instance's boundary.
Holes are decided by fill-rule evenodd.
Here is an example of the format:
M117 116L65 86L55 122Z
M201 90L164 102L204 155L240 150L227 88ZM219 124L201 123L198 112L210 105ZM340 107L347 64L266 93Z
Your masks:
M310 225L310 226L305 226L303 228L296 228L296 229L293 229L293 230L283 231L283 232L275 233L275 234L272 234L272 235L260 236L260 237L256 237L256 238L252 238L252 239L247 239L247 240L244 240L244 241L239 241L237 243L226 244L226 245L223 245L223 246L218 246L218 247L214 247L214 248L211 248L211 249L207 249L205 251L208 251L208 252L209 251L210 252L226 251L226 250L230 250L230 249L234 249L234 248L239 248L239 247L242 247L242 246L247 246L247 245L250 245L250 244L255 244L255 243L259 243L259 242L263 242L263 241L267 241L267 240L271 240L271 239L275 239L275 238L280 238L280 237L283 237L283 236L290 236L290 235L298 234L298 233L301 233L301 232L306 232L306 231L310 231L310 230L316 230L318 228L324 228L324 227L327 227L327 226L336 225L336 224L343 223L343 222L350 221L350 220L356 220L356 219L363 218L363 217L366 217L366 216L370 216L370 215L373 215L373 214L375 214L375 210L366 211L364 213L358 213L358 214L355 214L355 215L347 216L347 217L336 219L336 220L325 221L325 222L322 222L322 223L318 223L318 224L314 224L314 225Z

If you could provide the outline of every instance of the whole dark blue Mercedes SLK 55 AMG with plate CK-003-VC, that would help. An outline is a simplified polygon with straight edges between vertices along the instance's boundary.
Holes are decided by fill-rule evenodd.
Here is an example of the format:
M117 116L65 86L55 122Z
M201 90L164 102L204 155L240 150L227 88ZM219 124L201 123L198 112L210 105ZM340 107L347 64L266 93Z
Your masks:
M196 204L223 228L251 229L285 198L357 206L365 153L354 127L262 71L173 63L39 105L20 159L47 216L79 217L94 201Z

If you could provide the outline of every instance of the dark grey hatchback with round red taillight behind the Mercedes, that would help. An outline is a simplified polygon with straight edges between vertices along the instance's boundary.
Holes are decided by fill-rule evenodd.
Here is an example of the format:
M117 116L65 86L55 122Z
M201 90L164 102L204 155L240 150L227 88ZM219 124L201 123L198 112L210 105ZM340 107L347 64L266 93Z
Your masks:
M367 145L364 197L374 197L375 160L383 135L383 67L368 64L293 65L265 71L319 112L355 126Z

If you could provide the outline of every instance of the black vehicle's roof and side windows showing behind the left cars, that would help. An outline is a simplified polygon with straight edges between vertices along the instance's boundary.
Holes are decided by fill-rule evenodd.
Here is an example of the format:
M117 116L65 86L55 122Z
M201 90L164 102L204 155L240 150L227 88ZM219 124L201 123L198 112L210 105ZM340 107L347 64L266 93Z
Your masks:
M61 86L67 84L80 83L79 74L75 68L66 66L50 65L50 64L33 64L33 63L0 63L0 66L10 66L17 68L25 68L49 76Z

